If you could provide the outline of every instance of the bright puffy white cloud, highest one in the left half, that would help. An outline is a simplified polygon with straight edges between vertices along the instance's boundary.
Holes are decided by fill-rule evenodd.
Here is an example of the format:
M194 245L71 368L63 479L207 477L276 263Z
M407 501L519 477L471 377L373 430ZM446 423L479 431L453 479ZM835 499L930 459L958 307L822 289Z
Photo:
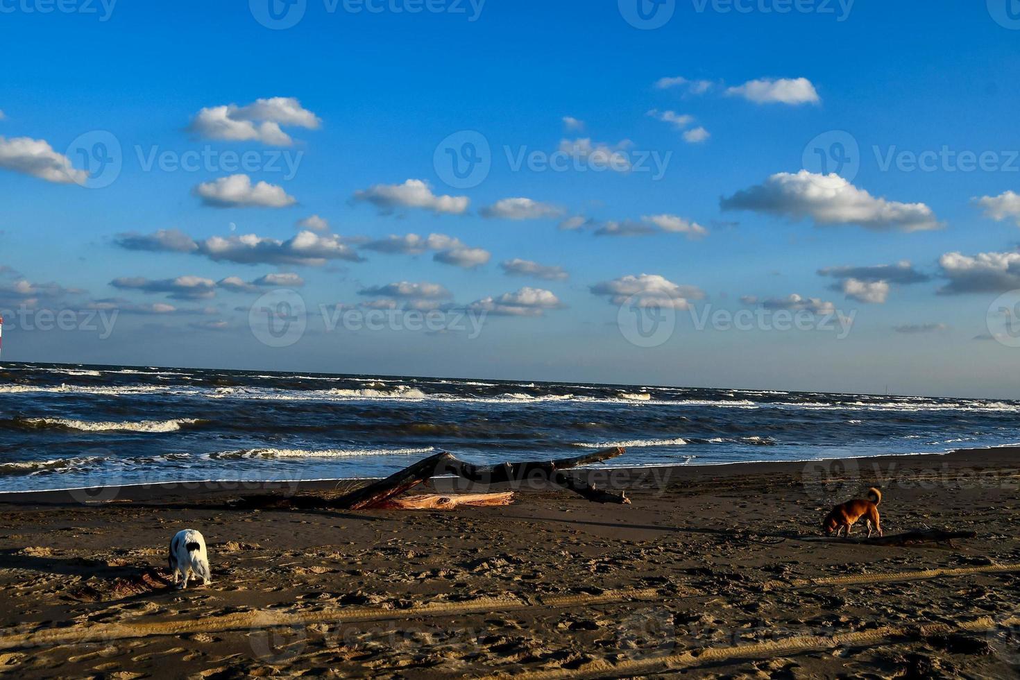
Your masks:
M291 137L280 125L314 129L318 117L293 97L259 99L247 106L227 104L199 111L190 129L201 137L228 142L257 141L277 147L290 146Z

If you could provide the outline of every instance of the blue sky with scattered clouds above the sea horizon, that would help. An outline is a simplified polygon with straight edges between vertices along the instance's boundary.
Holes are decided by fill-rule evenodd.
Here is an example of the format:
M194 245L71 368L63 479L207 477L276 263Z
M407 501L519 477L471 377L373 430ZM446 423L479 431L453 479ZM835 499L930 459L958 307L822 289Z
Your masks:
M1005 0L414 2L0 3L4 359L1020 398ZM284 347L249 314L280 287Z

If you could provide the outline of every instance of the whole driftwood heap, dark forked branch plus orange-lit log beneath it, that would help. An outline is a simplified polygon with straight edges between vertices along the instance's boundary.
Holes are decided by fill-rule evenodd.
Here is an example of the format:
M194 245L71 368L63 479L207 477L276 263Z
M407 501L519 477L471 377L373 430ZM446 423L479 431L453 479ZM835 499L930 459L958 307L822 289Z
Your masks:
M245 505L257 507L291 507L291 508L332 508L335 510L368 510L380 508L407 508L429 507L428 503L436 504L431 507L456 507L457 505L509 505L512 499L506 493L495 499L492 493L470 493L452 494L449 496L434 496L434 501L422 502L395 499L418 484L440 475L456 475L462 479L475 484L490 486L492 484L537 482L550 483L554 486L573 491L578 495L594 503L614 503L629 504L630 500L622 491L619 493L596 488L594 484L581 481L580 479L565 474L563 470L569 470L581 465L601 463L602 461L622 456L625 450L620 447L603 449L585 456L575 458L561 458L552 461L524 461L520 463L499 463L497 465L478 466L466 463L452 454L442 452L428 458L424 458L417 463L410 465L399 472L395 472L386 479L370 482L365 486L356 488L349 493L345 493L337 499L307 499L299 498L284 500L273 496L246 496L242 499ZM473 498L472 498L473 496ZM448 499L448 500L443 500ZM418 503L419 506L414 506Z

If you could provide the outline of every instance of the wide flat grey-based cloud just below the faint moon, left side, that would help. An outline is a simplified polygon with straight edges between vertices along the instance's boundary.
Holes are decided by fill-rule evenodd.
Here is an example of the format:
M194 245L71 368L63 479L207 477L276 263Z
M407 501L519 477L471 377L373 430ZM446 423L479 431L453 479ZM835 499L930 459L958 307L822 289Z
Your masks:
M254 233L212 237L199 243L199 252L215 261L240 264L301 264L320 267L328 260L360 262L361 257L336 234L301 231L287 241Z

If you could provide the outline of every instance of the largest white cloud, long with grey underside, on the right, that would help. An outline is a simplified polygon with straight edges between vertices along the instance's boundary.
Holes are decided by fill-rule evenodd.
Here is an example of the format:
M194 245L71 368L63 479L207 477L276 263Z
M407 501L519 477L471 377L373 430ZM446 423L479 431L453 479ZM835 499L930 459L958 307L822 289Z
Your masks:
M736 192L719 202L723 210L752 210L816 224L859 224L875 230L919 231L941 224L923 203L874 198L835 173L777 172L763 184Z

